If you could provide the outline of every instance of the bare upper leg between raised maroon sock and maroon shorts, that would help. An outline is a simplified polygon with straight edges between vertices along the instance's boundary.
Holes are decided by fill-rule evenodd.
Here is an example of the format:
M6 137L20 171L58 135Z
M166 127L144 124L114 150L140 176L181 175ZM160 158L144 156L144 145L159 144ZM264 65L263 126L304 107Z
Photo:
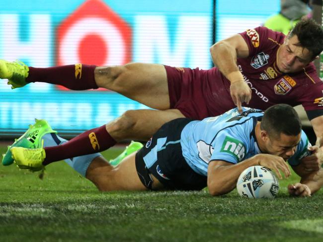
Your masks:
M153 109L169 109L167 74L161 64L96 67L94 79L98 87L118 92Z

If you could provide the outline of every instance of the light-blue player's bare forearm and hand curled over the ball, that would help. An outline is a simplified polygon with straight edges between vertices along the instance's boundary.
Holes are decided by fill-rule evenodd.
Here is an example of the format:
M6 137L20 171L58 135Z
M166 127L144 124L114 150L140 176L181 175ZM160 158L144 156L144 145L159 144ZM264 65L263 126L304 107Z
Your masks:
M285 177L289 177L291 172L283 158L269 154L258 154L246 159L238 164L225 161L213 160L208 167L208 188L213 196L223 195L232 191L237 184L237 180L243 170L250 166L265 166L274 171L278 178L282 179L279 170Z

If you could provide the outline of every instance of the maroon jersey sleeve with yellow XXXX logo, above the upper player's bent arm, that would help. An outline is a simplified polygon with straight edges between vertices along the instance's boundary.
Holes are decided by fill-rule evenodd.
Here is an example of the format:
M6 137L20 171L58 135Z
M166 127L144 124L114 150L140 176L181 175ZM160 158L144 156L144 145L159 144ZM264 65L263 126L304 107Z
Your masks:
M279 42L280 38L284 37L282 33L272 31L266 27L257 27L247 29L240 33L245 43L249 48L249 56L272 48L273 42Z

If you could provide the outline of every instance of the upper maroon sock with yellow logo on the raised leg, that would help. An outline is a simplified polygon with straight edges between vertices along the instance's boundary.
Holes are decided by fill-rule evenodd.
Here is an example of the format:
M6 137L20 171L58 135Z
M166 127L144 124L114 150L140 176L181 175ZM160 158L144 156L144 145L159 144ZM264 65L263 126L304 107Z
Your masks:
M29 67L26 82L47 82L62 85L71 90L96 89L94 80L95 65L72 64L48 68Z

